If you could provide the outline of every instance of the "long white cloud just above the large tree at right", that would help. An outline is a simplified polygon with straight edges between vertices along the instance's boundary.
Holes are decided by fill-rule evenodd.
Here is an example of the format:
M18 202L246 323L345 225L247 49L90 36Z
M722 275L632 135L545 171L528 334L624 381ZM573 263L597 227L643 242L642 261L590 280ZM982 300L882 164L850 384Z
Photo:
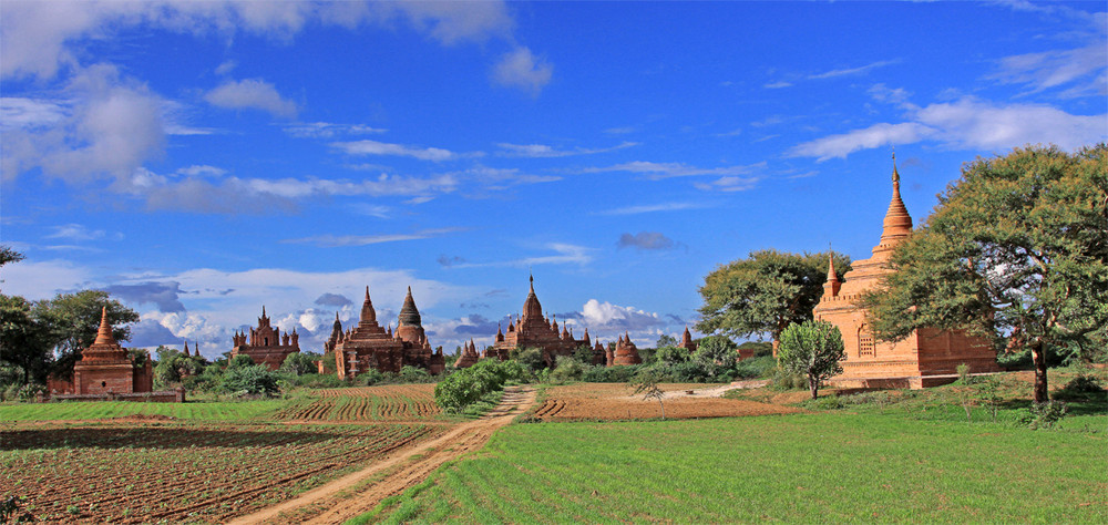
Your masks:
M1073 115L1042 104L997 105L963 97L910 109L907 116L910 122L880 123L806 142L789 154L822 162L845 158L860 150L923 141L955 150L1007 150L1040 143L1074 150L1108 137L1104 125L1108 115Z

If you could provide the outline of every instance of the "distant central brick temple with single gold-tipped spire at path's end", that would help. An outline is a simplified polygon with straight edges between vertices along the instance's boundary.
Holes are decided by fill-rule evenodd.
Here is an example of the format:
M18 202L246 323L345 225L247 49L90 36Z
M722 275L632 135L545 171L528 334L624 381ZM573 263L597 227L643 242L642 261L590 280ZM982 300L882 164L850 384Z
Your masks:
M535 296L535 278L532 276L531 291L523 301L523 313L517 320L509 318L507 332L496 330L496 342L482 357L505 360L515 348L537 348L542 350L546 364L553 367L558 356L572 356L581 346L593 346L588 330L585 330L582 339L575 339L566 327L558 330L556 318L551 320L543 316L543 307Z

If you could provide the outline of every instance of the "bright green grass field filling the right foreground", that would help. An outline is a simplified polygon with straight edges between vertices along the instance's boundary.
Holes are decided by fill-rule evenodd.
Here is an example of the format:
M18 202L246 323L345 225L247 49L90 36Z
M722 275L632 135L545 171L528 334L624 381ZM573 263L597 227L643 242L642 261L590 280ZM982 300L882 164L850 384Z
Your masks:
M843 411L517 424L359 522L1108 522L1108 437Z

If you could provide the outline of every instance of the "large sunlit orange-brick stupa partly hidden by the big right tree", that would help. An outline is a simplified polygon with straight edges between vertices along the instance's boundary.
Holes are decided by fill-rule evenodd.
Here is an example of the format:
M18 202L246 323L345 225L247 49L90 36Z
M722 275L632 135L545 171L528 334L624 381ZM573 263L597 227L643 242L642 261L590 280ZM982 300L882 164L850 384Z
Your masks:
M988 341L961 330L920 329L896 342L874 340L866 311L855 301L863 292L881 286L883 277L893 271L889 268L893 249L912 234L912 217L901 200L895 158L892 178L892 202L873 256L852 262L842 281L832 259L823 297L812 310L815 319L829 321L842 332L847 360L842 362L842 374L831 382L848 388L919 389L953 381L962 363L972 372L999 371Z

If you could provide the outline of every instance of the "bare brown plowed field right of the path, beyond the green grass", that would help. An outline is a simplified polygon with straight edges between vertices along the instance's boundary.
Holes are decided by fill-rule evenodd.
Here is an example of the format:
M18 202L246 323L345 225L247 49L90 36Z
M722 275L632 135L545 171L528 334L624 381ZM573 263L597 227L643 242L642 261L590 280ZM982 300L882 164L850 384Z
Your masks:
M739 415L788 414L799 409L756 401L722 399L718 397L681 395L702 384L665 384L664 400L667 419L729 418ZM674 395L674 397L670 397ZM625 383L582 383L554 387L533 413L543 421L615 421L661 418L657 400L633 395Z

